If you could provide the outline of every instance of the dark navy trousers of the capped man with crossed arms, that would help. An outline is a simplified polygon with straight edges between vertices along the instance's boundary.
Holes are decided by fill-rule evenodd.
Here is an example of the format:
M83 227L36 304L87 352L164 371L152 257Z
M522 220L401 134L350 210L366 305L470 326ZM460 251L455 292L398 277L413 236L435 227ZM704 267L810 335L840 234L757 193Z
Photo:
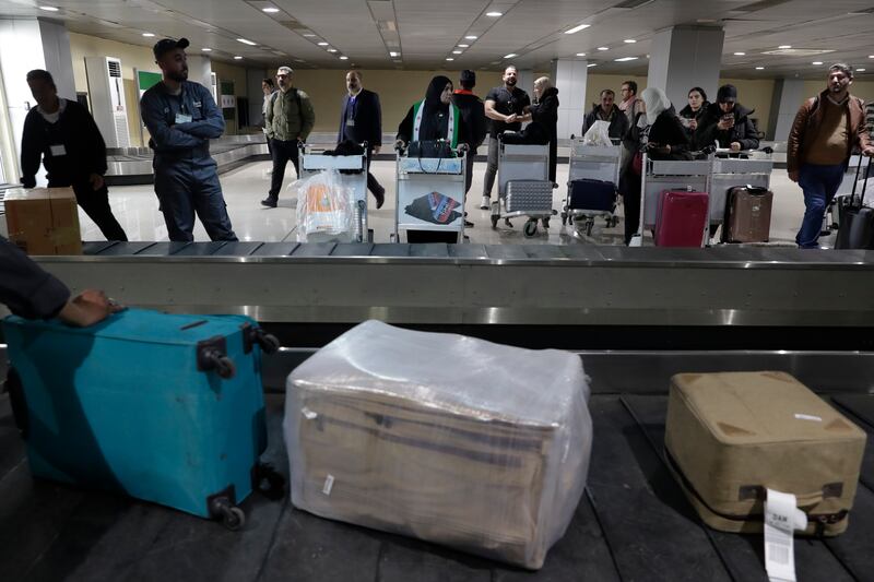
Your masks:
M181 163L180 163L181 164ZM155 193L170 240L194 240L197 213L211 240L237 240L215 166L185 170L155 166Z

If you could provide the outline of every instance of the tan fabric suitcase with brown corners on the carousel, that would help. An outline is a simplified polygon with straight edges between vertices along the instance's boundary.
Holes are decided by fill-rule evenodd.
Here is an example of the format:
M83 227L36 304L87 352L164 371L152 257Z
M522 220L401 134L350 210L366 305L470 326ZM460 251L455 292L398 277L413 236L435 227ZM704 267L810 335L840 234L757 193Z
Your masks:
M681 373L671 380L669 466L705 523L763 531L767 489L792 494L804 533L847 528L866 436L788 373Z

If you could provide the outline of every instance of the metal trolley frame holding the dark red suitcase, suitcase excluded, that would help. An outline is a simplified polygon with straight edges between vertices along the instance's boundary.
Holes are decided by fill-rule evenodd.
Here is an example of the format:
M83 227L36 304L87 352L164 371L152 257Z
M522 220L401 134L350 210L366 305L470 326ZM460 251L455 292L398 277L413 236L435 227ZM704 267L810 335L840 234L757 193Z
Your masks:
M641 247L645 228L656 228L659 199L666 190L710 192L712 158L696 161L650 159L643 154L643 174L640 177L640 222L629 247ZM708 204L709 205L709 204ZM709 210L707 212L709 216ZM707 241L708 221L701 230L701 247Z

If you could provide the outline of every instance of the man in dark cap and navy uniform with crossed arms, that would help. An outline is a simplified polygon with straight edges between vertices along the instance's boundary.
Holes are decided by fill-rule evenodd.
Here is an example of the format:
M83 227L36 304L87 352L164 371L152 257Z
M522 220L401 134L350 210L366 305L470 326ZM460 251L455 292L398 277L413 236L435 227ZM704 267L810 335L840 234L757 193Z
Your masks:
M210 91L188 81L186 38L158 40L155 62L164 79L140 99L140 111L154 150L155 193L170 240L193 240L194 213L212 240L237 240L227 216L210 140L225 121Z

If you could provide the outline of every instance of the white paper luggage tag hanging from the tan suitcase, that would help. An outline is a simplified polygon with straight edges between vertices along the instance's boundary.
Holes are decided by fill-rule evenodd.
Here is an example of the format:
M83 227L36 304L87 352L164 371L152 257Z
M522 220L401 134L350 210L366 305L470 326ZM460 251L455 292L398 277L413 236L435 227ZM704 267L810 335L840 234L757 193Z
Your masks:
M795 496L768 489L765 500L765 568L771 582L795 582L792 532L807 527Z

